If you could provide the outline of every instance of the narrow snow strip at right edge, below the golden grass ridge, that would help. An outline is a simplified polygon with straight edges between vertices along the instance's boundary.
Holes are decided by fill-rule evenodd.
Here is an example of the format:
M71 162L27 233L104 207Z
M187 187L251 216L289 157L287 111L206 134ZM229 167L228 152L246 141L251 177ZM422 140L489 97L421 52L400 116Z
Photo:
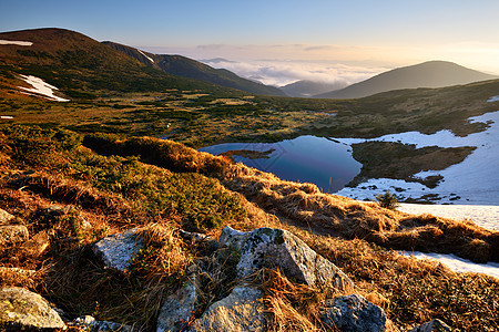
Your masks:
M456 272L473 272L483 273L495 278L499 278L499 263L475 263L468 259L457 257L455 255L444 253L424 253L419 251L399 251L404 256L414 256L417 259L438 260L445 263L449 269Z

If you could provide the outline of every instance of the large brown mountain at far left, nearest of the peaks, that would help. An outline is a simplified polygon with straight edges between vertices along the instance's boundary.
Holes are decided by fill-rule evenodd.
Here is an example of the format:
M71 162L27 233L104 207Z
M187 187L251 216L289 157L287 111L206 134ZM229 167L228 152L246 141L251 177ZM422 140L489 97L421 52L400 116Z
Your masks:
M68 96L91 96L95 91L142 92L165 89L230 91L206 82L167 74L112 48L64 29L33 29L0 33L1 40L31 45L0 45L0 74L34 75ZM29 44L29 43L28 43ZM231 90L231 93L234 93Z

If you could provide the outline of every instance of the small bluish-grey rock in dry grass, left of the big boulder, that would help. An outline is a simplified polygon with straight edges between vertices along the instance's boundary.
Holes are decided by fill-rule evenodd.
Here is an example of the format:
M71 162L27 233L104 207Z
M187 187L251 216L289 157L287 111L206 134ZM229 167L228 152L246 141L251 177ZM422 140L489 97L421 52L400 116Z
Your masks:
M126 271L133 263L133 258L145 247L144 240L139 237L139 229L103 238L93 245L93 252L102 258L108 268Z

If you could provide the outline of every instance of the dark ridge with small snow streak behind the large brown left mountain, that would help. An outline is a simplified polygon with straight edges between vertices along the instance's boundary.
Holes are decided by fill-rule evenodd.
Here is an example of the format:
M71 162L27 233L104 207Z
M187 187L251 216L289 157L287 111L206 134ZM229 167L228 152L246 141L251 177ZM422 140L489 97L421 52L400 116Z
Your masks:
M207 64L182 55L152 54L114 42L103 42L103 44L123 52L126 55L133 56L144 64L161 69L169 74L206 81L213 84L237 89L248 93L285 95L285 93L277 87L240 77L231 71L214 69Z

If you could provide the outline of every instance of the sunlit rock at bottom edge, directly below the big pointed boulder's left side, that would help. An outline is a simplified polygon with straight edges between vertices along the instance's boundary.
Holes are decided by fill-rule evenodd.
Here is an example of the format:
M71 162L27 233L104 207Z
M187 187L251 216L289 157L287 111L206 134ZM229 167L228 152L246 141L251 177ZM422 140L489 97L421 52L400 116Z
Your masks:
M191 331L265 331L264 307L258 301L262 297L261 290L237 287L228 297L213 303L192 324Z

